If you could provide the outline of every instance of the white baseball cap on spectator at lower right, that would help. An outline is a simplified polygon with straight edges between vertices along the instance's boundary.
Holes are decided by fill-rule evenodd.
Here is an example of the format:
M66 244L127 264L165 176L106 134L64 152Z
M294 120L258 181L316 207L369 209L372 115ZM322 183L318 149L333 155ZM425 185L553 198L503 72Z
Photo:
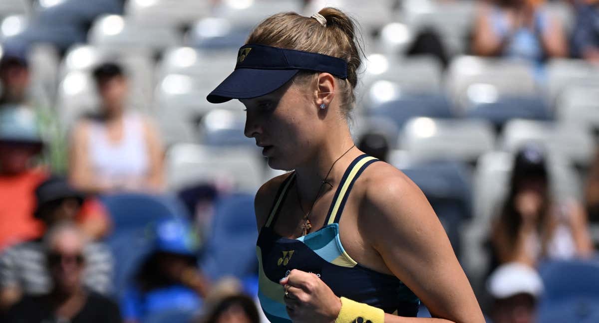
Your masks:
M543 281L536 270L525 264L508 263L498 267L487 281L489 294L494 298L509 298L518 294L539 297Z

